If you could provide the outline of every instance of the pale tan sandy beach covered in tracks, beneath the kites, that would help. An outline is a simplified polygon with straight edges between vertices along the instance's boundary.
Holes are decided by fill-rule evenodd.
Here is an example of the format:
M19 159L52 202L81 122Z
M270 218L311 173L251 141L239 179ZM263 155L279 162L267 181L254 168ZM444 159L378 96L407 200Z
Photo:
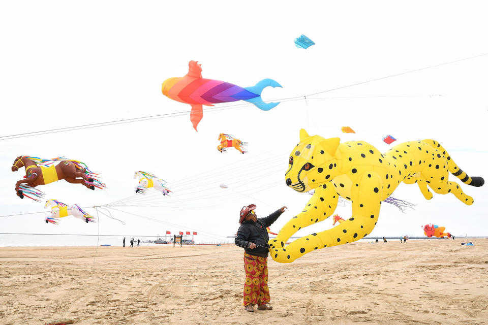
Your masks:
M488 239L462 241L356 242L291 264L269 258L274 309L254 313L242 306L243 251L233 245L2 247L0 323L485 324Z

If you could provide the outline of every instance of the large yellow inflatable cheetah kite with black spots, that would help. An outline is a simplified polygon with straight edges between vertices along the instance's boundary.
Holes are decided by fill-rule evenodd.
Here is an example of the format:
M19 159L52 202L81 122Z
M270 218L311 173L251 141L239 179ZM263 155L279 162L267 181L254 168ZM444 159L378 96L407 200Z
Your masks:
M451 193L464 204L473 204L455 182L452 173L465 184L481 186L481 177L469 177L436 141L426 139L394 146L382 154L363 141L340 143L339 138L309 136L300 130L300 142L292 150L285 174L288 186L297 192L315 188L302 212L288 221L269 251L277 262L289 263L311 250L347 244L371 234L380 212L381 202L404 182L417 183L425 199L432 199L431 189L439 194ZM330 230L284 243L295 232L332 215L339 196L351 201L352 216Z

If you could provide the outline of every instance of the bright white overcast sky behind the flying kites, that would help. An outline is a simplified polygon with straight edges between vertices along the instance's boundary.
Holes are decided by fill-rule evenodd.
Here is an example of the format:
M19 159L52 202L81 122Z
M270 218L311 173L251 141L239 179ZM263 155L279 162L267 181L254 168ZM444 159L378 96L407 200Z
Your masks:
M184 76L189 60L202 63L204 78L242 87L264 78L278 81L283 88L263 92L269 101L488 53L484 1L201 4L3 2L0 136L188 111L189 105L162 95L161 83ZM293 41L300 34L316 45L297 49ZM284 102L268 112L254 106L206 111L198 133L185 115L0 138L0 215L43 209L15 195L15 182L24 175L24 169L10 170L16 156L64 155L101 173L108 189L90 191L59 181L40 186L46 199L86 207L130 197L137 170L167 180L174 191L171 198L141 196L135 201L139 206L117 209L184 227L115 211L113 216L126 225L103 217L101 234L188 230L233 235L240 208L251 203L260 216L289 207L271 227L277 232L310 199L288 188L284 179L301 127L311 135L367 141L383 152L389 148L382 142L388 134L398 139L396 143L436 139L468 175L486 179L487 76L488 56L482 56L315 96L321 99ZM341 126L352 127L356 134L341 133ZM249 142L250 152L219 153L221 132ZM229 188L221 189L221 183ZM416 185L402 184L392 196L417 204L415 210L403 214L383 204L371 235L423 235L420 225L425 223L446 226L454 235L487 235L487 186L463 189L474 205L466 206L452 195L434 194L426 201ZM349 216L350 205L339 207L337 213ZM47 210L2 217L0 232L98 231L96 225L74 218L61 219L58 226L45 224L45 215ZM297 235L331 224L330 218Z

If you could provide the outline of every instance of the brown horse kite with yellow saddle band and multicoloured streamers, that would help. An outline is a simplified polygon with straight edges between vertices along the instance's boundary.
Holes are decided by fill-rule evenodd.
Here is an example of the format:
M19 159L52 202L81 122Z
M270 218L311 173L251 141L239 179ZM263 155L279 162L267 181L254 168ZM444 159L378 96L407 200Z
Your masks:
M54 166L55 161L59 161L56 166ZM25 167L25 179L19 180L15 185L15 191L20 199L24 198L24 191L35 197L42 198L43 193L37 192L33 188L61 179L66 180L68 183L83 184L89 189L105 187L105 184L96 178L98 174L90 171L84 163L78 160L64 157L41 159L31 156L18 156L12 165L12 172L16 172L22 167ZM25 196L39 201L29 197L27 194Z

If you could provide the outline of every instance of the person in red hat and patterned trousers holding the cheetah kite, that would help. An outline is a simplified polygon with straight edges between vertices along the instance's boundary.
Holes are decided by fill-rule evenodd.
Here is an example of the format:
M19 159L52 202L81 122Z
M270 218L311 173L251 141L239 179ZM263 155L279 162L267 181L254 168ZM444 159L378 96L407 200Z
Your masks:
M287 207L271 213L265 218L259 218L255 204L243 207L239 213L240 227L237 230L235 244L244 248L244 306L246 311L253 312L254 305L260 310L270 310L273 307L267 303L271 300L268 288L268 232L269 227L285 212Z

